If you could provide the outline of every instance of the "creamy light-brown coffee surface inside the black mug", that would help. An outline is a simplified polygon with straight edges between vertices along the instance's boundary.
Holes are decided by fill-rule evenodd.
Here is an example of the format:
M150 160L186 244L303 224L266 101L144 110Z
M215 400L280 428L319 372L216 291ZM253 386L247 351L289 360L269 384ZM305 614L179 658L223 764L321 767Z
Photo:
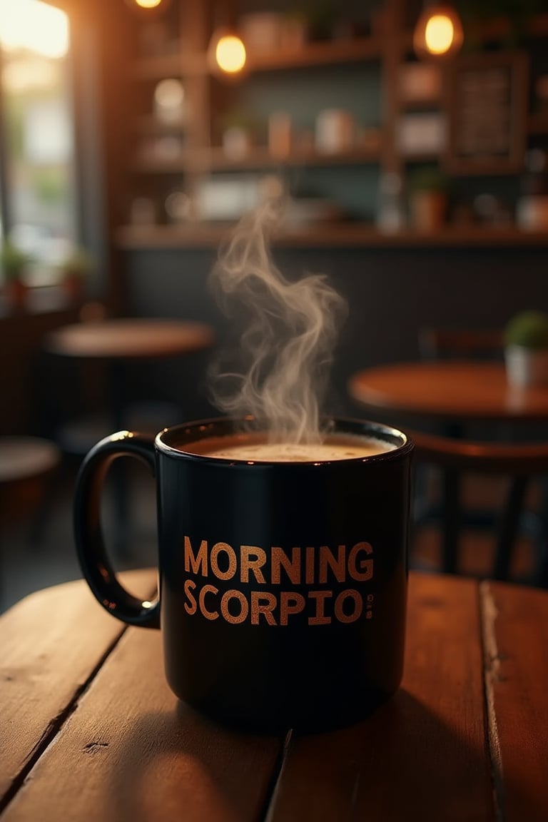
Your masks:
M244 462L326 462L385 454L396 446L372 437L349 434L335 434L314 444L268 442L261 434L233 434L208 437L180 447L191 454L240 459Z

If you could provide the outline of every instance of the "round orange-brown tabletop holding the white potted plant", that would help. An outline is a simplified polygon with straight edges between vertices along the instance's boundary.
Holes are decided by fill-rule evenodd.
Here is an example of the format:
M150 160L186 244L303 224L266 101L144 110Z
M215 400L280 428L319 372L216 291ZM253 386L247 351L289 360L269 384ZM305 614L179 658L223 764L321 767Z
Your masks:
M525 422L548 419L548 386L510 386L503 363L397 363L357 372L353 399L380 412L457 421Z

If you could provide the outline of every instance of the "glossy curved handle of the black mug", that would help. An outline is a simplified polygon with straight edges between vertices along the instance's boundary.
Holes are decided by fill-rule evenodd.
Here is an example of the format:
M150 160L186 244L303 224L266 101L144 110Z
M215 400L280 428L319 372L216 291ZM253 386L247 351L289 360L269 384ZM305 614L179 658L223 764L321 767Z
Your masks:
M134 597L117 580L108 559L101 529L100 503L108 469L114 459L140 459L156 474L154 437L121 431L106 436L81 464L74 498L74 537L85 580L94 597L108 613L129 625L159 628L159 596L153 602Z

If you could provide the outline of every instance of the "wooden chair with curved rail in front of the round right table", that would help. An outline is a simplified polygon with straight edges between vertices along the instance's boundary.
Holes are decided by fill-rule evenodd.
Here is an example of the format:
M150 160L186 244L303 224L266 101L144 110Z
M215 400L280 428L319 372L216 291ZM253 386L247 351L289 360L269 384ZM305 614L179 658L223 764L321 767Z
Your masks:
M458 570L458 543L463 525L460 478L464 473L504 475L510 480L505 504L498 513L495 562L492 578L508 580L513 548L524 511L524 502L532 478L548 475L548 443L540 445L473 442L422 432L409 432L415 443L415 464L436 466L442 476L442 570ZM548 586L548 545L545 520L538 520L541 533L536 583Z

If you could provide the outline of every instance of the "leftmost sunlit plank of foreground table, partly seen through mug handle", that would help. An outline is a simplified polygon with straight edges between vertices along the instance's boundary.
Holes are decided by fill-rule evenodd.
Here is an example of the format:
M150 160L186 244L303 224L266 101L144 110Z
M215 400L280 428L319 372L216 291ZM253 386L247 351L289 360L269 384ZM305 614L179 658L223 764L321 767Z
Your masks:
M154 590L155 571L121 577L136 593ZM2 615L0 808L124 630L82 580L30 594Z

